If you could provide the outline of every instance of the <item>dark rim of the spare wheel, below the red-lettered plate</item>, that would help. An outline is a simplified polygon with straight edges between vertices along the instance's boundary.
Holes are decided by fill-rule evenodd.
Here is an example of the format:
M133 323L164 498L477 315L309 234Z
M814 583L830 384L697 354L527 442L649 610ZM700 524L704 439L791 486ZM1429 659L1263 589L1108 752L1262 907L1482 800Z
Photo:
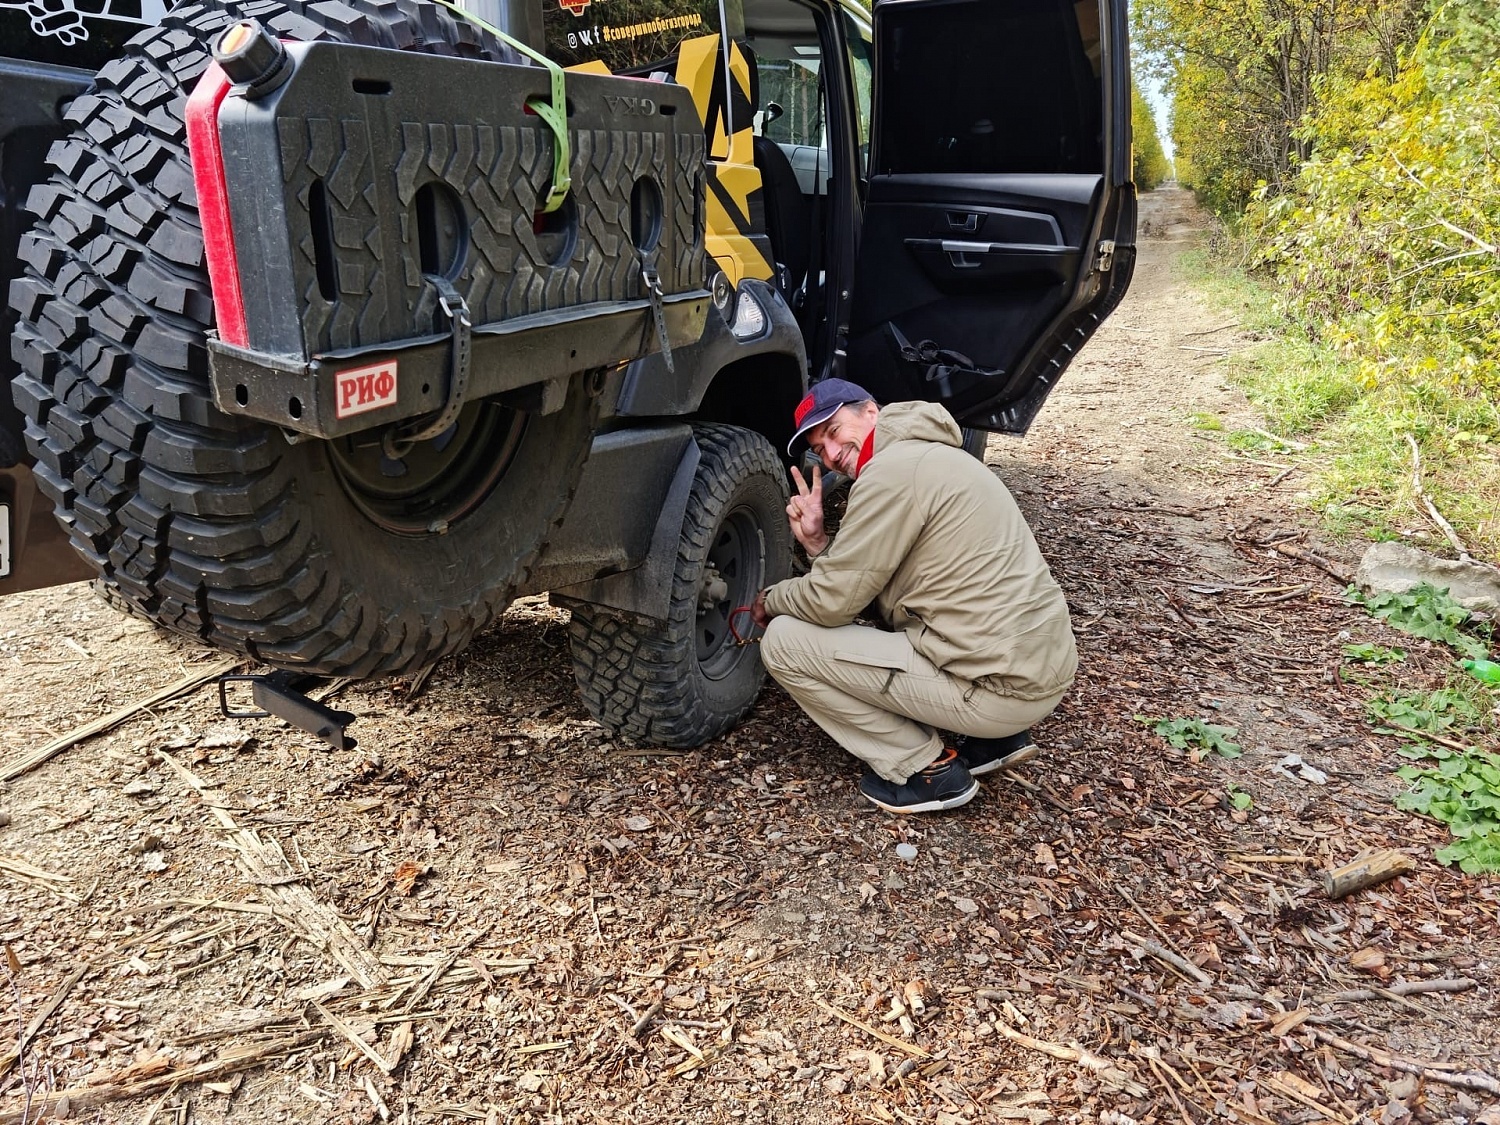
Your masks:
M354 506L398 536L441 534L490 494L510 466L526 416L472 402L453 424L390 458L382 429L330 441L328 462Z

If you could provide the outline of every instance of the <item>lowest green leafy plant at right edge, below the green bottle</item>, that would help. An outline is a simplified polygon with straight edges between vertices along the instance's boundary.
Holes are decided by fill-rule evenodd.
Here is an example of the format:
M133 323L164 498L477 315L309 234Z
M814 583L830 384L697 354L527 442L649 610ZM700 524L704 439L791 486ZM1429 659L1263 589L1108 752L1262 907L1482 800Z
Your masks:
M1468 874L1500 872L1500 754L1425 742L1401 753L1431 762L1396 771L1410 786L1396 798L1396 807L1449 826L1454 843L1438 849L1438 862L1458 864Z

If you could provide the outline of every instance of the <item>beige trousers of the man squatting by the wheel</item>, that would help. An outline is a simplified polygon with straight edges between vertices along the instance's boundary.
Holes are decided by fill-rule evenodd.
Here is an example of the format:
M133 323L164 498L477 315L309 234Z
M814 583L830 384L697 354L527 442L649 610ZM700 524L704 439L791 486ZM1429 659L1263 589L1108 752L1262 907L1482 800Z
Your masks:
M912 648L906 633L826 628L795 616L771 620L760 660L838 746L897 784L942 753L934 728L1004 738L1040 723L1065 694L1036 700L996 694L944 672Z

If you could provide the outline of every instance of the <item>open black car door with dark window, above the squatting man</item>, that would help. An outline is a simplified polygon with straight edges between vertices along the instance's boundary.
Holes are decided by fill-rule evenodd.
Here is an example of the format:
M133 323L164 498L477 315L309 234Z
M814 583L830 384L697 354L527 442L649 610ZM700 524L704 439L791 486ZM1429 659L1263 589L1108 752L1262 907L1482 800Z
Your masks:
M1125 0L880 0L848 376L1022 434L1136 258Z

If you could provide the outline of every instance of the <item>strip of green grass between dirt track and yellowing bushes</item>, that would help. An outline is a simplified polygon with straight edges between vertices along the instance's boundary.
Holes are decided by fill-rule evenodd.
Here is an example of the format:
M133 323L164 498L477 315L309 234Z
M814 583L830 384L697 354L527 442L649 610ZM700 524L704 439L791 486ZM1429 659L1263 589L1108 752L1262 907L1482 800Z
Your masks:
M1500 558L1500 404L1458 393L1440 372L1407 372L1366 386L1356 363L1278 312L1274 290L1239 268L1234 254L1230 238L1216 254L1184 255L1180 270L1210 304L1258 339L1226 363L1263 414L1264 429L1312 444L1299 454L1306 470L1299 501L1335 536L1414 538L1446 550L1412 486L1412 435L1420 448L1424 492L1472 552ZM1230 434L1228 444L1284 452L1251 430Z

